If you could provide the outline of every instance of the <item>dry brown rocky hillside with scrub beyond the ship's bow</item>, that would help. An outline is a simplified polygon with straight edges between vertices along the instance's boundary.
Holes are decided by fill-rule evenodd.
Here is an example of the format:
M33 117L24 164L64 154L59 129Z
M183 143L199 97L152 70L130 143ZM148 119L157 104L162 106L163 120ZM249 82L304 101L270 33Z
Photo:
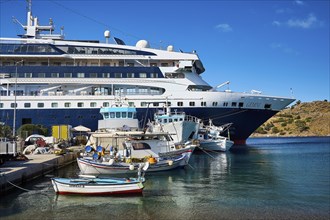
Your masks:
M315 101L297 103L261 125L252 137L258 136L329 136L330 103Z

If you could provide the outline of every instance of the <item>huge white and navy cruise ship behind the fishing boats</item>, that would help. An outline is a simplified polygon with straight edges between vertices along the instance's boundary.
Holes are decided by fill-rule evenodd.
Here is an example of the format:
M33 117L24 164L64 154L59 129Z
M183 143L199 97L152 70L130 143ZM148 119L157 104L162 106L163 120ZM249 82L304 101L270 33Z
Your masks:
M197 53L155 49L148 41L126 45L105 31L105 42L65 40L53 21L39 25L28 1L25 34L0 36L0 123L47 127L84 125L92 130L100 108L118 97L137 109L141 125L167 105L207 122L232 123L230 138L246 139L267 119L294 101L290 97L219 91L201 78ZM228 82L224 83L227 84Z

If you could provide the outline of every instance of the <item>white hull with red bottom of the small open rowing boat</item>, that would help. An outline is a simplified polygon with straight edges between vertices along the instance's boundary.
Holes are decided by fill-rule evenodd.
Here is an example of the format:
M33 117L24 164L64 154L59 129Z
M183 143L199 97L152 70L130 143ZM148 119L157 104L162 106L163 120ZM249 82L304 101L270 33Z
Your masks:
M57 194L84 194L84 195L116 195L139 194L143 191L143 184L138 181L122 180L113 183L98 183L100 179L87 182L66 178L52 178L52 184Z

